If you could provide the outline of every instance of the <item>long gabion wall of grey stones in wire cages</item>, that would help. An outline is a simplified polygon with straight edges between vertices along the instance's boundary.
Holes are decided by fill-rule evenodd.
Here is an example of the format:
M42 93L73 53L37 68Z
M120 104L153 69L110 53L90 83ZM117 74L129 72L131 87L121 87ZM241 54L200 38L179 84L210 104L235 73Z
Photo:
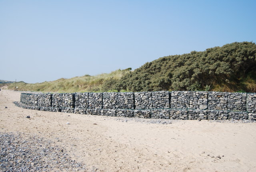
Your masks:
M17 106L134 118L180 120L256 120L256 93L230 92L104 92L26 94Z

